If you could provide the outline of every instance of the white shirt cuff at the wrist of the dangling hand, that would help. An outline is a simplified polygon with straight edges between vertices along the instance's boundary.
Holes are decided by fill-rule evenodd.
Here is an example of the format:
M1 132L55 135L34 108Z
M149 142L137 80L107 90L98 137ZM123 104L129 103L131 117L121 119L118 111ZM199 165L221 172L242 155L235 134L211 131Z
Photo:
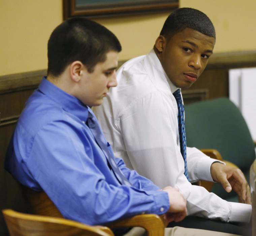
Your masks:
M201 158L200 164L198 165L198 177L201 180L207 180L214 182L212 175L211 175L211 165L214 162L220 162L225 165L224 162L213 159L213 158Z

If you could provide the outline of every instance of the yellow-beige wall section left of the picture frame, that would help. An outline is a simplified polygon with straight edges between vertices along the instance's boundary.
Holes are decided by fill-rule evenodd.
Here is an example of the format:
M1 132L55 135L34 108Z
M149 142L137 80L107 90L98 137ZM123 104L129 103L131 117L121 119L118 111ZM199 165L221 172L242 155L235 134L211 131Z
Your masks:
M0 75L47 68L47 40L61 0L0 0Z

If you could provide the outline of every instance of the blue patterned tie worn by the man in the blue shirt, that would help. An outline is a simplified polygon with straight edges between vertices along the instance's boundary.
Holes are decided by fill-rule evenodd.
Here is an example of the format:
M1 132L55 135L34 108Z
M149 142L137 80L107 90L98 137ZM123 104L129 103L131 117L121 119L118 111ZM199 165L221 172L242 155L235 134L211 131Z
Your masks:
M118 167L116 161L109 153L108 147L106 145L104 136L100 130L100 127L98 126L97 122L95 121L95 117L90 113L88 113L88 119L87 119L87 125L89 129L91 130L95 141L99 145L100 149L103 151L108 165L113 170L114 175L116 176L117 180L124 185L132 186L132 184L129 182L129 180L124 176L123 172Z

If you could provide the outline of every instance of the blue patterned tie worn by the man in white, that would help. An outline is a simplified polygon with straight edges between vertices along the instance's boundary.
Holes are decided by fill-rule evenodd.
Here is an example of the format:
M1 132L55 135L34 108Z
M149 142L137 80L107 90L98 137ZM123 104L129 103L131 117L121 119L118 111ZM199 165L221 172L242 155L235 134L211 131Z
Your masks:
M179 137L180 137L180 146L181 146L181 154L185 163L185 176L189 181L188 176L188 167L187 167L187 148L186 148L186 132L185 132L185 124L184 124L184 105L182 103L181 92L180 90L176 90L173 93L178 105L178 125L179 125Z

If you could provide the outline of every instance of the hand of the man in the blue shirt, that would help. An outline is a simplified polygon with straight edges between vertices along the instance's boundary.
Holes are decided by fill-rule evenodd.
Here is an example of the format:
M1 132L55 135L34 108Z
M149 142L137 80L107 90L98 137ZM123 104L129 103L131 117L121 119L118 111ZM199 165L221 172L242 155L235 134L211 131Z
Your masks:
M167 222L175 221L179 222L182 221L186 215L187 212L187 200L179 192L177 188L172 188L170 186L165 187L163 191L168 193L169 202L170 202L170 208L167 213L165 213L164 218Z

